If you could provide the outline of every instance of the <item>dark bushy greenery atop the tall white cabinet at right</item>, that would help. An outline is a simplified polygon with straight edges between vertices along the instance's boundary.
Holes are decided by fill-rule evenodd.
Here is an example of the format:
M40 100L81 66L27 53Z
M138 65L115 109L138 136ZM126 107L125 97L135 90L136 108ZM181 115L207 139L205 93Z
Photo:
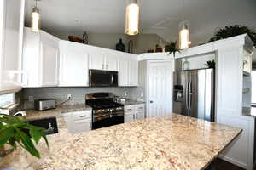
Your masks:
M209 42L214 42L228 37L239 36L241 34L247 34L252 39L254 46L256 47L256 32L252 29L249 29L247 26L239 25L225 26L224 28L219 29Z

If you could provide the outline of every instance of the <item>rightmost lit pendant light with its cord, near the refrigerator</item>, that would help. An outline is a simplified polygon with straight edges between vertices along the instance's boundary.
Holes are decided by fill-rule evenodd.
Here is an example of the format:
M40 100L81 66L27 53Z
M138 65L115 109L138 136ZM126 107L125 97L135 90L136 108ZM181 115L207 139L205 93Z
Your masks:
M185 11L185 2L183 0L183 11ZM183 21L179 24L179 48L189 48L189 21L185 20L185 14L183 12Z

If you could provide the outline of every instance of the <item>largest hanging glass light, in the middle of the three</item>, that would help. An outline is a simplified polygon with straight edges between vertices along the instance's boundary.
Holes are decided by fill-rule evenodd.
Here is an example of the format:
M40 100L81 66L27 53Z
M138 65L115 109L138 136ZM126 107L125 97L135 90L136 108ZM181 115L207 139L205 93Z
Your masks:
M137 0L129 0L130 3L126 7L125 33L128 35L138 34L139 25L139 6Z

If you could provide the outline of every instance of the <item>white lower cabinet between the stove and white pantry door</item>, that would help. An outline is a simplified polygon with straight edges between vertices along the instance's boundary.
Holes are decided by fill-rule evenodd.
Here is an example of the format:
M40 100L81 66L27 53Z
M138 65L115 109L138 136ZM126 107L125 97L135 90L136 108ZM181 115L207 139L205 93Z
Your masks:
M145 118L145 105L125 105L125 122L142 120Z

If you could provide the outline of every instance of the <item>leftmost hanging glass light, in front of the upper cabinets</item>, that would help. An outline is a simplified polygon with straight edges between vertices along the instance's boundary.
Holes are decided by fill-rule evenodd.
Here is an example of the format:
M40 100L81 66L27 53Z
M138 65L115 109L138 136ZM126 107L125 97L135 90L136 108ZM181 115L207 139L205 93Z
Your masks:
M32 15L31 15L31 27L32 31L38 32L40 30L40 14L39 14L39 9L38 9L38 1L40 0L35 0L36 1L36 6L32 9Z

